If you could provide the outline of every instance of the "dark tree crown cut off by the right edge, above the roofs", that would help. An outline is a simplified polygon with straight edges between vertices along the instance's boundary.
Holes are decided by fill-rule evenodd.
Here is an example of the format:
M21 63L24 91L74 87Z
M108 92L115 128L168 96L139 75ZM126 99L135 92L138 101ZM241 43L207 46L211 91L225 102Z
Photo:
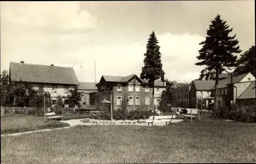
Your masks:
M251 72L255 76L255 46L241 54L237 61L237 69L234 70L236 75Z

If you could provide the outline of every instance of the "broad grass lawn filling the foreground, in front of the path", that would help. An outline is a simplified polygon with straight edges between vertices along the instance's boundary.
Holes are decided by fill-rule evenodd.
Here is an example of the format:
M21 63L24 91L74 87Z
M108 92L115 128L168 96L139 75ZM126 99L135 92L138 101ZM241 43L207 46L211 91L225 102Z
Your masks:
M211 120L167 126L75 126L1 137L3 163L256 162L255 124Z

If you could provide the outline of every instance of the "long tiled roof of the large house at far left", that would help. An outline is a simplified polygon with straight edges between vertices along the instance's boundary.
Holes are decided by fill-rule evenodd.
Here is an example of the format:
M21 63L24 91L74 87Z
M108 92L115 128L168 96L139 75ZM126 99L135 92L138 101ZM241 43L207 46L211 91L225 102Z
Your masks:
M51 84L79 84L75 71L71 67L56 67L37 64L10 62L12 81Z

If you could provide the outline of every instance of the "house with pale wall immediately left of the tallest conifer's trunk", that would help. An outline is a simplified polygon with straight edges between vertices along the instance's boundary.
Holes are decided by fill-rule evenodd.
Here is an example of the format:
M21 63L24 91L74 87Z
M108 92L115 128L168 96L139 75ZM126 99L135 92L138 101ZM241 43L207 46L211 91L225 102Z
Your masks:
M209 103L214 101L214 97L211 96L211 91L215 88L214 80L194 80L192 81L189 100L190 107L197 108L198 98L203 99L203 104L205 107Z

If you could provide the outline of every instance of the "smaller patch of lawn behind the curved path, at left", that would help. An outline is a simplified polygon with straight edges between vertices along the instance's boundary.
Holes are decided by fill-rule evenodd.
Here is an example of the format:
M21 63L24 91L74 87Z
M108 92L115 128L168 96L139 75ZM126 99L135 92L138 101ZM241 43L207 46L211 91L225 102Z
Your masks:
M83 119L88 118L87 115L66 115L62 120ZM56 120L45 122L44 117L38 116L6 116L1 117L1 134L9 134L16 132L33 131L39 129L51 129L69 126Z

